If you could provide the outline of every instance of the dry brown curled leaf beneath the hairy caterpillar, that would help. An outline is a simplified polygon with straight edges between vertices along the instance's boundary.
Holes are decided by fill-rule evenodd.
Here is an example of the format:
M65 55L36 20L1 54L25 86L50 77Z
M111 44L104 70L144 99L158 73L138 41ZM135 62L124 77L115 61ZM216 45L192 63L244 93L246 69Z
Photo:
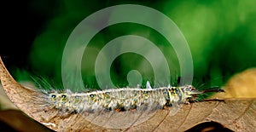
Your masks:
M108 115L107 119L102 115L95 117L95 120L105 124L97 125L81 114L61 115L55 108L42 109L42 106L36 102L37 100L34 100L34 97L40 97L40 93L15 82L2 60L0 60L0 77L3 89L15 106L39 123L56 131L184 131L198 123L210 121L220 123L234 131L253 131L256 126L256 100L249 98L195 102L183 105L174 116L171 116L169 109L157 110L146 121L131 123L126 128L108 126L125 123L130 121L130 118L136 118L138 121L142 116L133 112L113 112Z

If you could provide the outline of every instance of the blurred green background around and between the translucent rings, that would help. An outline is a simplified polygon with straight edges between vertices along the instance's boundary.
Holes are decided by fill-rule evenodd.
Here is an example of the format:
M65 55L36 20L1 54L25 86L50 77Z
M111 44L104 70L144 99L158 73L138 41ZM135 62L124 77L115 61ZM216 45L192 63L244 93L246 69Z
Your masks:
M183 32L189 43L194 63L195 86L210 83L222 85L236 72L256 66L256 1L254 0L37 0L26 4L27 14L38 18L37 32L28 43L26 64L13 71L16 78L25 79L27 70L53 82L61 83L61 55L69 34L86 16L109 6L133 3L157 9L169 16ZM41 21L40 21L41 19ZM43 22L42 22L43 20ZM167 25L162 25L163 27ZM135 34L148 38L160 47L172 66L172 85L179 77L177 56L166 39L159 33L137 24L109 26L90 42L82 61L84 85L97 88L94 63L105 43L115 37ZM130 59L130 60L128 60ZM137 65L135 65L137 64ZM120 55L113 61L111 75L119 86L127 85L127 73L137 69L146 80L154 82L154 72L148 61L140 55ZM70 81L75 82L75 78ZM215 82L215 83L212 83ZM212 83L212 84L211 84Z

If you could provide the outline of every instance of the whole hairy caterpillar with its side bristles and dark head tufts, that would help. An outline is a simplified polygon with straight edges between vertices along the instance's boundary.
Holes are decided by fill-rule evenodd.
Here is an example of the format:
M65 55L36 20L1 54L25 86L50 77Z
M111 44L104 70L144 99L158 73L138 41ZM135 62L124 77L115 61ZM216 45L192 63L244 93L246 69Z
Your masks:
M103 89L87 92L73 92L71 89L55 89L44 77L32 77L37 84L39 96L33 97L41 110L56 109L61 116L70 113L88 115L105 112L142 112L157 109L171 108L177 112L183 104L200 101L198 95L209 92L221 92L222 89L212 87L206 90L197 90L192 85L152 88L147 81L145 89L137 84L136 88ZM43 87L47 87L42 89Z

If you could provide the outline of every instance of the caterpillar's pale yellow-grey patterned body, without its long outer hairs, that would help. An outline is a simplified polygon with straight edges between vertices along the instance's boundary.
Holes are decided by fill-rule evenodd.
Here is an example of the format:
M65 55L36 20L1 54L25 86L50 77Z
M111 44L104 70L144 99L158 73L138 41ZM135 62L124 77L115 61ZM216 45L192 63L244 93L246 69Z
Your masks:
M188 102L193 95L201 92L191 85L183 87L161 87L152 89L106 89L88 93L49 93L50 106L63 112L102 112L159 109Z

